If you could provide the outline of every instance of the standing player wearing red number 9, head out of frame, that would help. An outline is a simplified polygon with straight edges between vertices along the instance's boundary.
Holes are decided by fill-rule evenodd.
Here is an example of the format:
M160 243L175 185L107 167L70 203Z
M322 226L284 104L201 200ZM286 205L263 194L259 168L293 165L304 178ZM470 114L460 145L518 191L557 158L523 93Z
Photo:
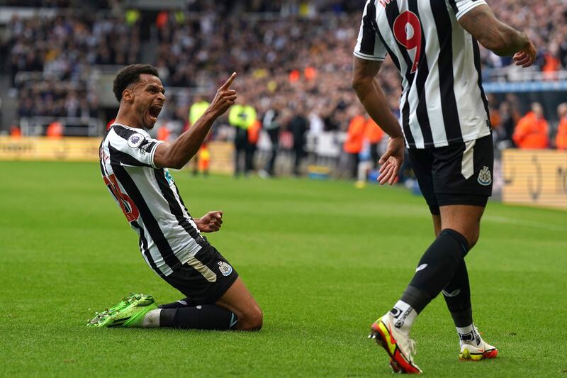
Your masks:
M492 194L493 143L477 41L522 67L535 60L527 35L498 21L484 0L369 0L364 9L352 84L390 135L378 181L395 182L407 145L436 235L400 300L371 326L370 337L386 349L395 372L421 372L410 330L440 292L459 334L459 357L498 354L473 323L464 260ZM386 54L403 79L401 127L375 79Z

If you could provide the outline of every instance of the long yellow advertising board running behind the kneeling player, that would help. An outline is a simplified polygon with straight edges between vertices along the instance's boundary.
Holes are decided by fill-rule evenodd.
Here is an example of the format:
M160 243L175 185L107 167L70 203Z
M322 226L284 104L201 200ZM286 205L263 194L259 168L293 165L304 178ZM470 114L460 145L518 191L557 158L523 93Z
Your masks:
M101 138L1 137L1 160L96 162ZM232 172L233 147L228 142L208 143L211 172Z

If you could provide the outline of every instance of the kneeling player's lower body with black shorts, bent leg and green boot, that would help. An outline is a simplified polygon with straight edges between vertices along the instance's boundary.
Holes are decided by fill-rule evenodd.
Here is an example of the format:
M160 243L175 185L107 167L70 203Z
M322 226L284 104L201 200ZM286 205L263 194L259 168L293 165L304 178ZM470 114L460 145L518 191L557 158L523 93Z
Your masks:
M164 277L186 295L157 307L151 296L133 294L90 321L91 326L171 327L203 330L259 330L262 311L237 272L207 245L186 264ZM241 317L241 319L239 318Z

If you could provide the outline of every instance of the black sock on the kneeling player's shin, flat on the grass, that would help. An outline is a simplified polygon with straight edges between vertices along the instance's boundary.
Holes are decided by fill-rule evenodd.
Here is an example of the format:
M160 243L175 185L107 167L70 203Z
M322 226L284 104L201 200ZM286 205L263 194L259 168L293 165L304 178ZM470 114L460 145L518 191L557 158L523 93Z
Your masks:
M238 318L226 308L203 304L202 306L163 308L159 313L159 326L198 330L231 330Z

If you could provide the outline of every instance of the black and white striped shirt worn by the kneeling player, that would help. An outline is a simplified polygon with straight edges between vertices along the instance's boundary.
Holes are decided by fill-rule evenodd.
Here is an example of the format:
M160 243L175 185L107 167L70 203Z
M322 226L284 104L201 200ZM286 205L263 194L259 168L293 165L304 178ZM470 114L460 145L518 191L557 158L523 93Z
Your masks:
M115 123L99 148L106 187L140 235L147 265L164 277L207 244L187 211L167 168L157 168L157 145L140 128Z

